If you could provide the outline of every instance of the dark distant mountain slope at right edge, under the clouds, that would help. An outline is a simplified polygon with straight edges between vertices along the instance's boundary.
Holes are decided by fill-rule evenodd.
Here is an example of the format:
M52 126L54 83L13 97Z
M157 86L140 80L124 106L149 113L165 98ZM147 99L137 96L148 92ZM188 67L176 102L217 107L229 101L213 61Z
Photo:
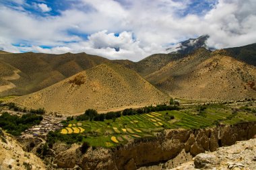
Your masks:
M249 65L256 66L256 43L247 46L226 48L225 50L230 53L230 56L242 60Z

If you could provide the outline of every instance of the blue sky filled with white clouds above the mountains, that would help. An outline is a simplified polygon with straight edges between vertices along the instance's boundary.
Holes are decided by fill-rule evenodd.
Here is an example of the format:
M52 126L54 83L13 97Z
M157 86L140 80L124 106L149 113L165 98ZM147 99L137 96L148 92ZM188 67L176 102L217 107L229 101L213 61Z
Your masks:
M213 48L256 42L256 0L0 0L0 50L141 60L208 34Z

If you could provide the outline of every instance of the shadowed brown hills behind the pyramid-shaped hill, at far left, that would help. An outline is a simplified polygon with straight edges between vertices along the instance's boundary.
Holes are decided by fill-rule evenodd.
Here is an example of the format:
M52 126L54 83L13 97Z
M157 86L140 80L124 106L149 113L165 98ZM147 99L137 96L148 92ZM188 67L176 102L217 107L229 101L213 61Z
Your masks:
M15 88L2 91L0 96L26 95L107 61L106 58L86 53L0 54L0 82L3 82L3 77L13 74L14 70L20 71L20 79L11 80ZM2 84L7 83L3 82Z

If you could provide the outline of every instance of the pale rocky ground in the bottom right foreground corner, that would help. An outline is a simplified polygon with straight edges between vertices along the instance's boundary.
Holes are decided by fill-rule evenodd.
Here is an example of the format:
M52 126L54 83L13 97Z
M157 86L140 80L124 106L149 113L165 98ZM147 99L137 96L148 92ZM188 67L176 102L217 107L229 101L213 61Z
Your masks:
M193 161L171 170L181 169L256 169L256 138L238 141L232 146L218 148L213 153L200 153Z

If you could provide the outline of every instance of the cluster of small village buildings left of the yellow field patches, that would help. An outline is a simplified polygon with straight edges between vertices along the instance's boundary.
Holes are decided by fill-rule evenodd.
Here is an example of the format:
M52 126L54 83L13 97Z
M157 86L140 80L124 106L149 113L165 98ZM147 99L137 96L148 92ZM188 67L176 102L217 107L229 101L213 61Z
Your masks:
M32 128L22 132L22 136L20 136L20 138L30 138L34 136L45 138L50 131L59 130L61 128L63 128L63 124L61 124L59 120L44 116L44 119L39 125L33 126Z

